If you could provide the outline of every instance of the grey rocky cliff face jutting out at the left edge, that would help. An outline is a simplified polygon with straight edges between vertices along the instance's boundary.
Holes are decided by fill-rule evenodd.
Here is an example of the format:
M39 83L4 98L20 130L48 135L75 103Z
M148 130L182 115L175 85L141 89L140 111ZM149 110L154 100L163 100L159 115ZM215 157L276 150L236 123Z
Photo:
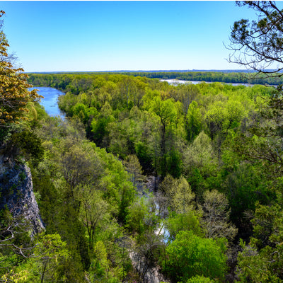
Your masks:
M11 161L0 152L0 209L7 207L14 217L24 216L30 224L31 236L44 226L33 193L30 168Z

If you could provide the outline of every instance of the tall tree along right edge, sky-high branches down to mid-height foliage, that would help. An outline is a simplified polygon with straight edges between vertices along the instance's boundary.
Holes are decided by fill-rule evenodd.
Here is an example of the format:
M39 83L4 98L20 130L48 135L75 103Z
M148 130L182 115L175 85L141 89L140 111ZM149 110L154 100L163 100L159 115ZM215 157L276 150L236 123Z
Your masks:
M258 21L249 23L242 19L234 23L230 46L234 54L238 54L234 62L258 74L282 76L277 71L283 69L283 10L275 1L237 1L237 4L248 5L259 13ZM266 99L266 105L260 105L249 134L240 134L236 146L249 161L268 165L272 169L270 175L274 176L282 173L282 92L282 86L278 86Z

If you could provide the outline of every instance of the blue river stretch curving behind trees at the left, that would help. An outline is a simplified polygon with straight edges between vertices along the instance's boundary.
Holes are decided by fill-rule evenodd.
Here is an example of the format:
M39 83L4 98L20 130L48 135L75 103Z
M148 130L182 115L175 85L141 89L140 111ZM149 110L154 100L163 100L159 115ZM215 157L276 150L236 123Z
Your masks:
M64 95L62 91L58 91L56 88L47 88L42 86L35 87L39 91L37 92L40 94L40 96L43 96L44 98L41 98L40 105L42 105L45 108L45 111L50 116L60 116L62 119L64 119L65 115L64 113L59 109L58 107L58 96ZM29 88L29 90L32 90L34 88Z

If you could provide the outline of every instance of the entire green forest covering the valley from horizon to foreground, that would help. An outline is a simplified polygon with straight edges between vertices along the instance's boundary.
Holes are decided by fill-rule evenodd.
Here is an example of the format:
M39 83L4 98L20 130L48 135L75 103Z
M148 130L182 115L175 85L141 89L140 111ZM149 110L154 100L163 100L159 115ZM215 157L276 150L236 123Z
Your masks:
M274 8L260 3L247 5ZM233 44L249 44L247 26L234 25ZM28 76L0 37L0 154L30 168L44 224L31 233L16 209L1 209L0 282L283 282L281 85ZM65 93L64 120L32 85ZM17 190L4 185L0 204Z

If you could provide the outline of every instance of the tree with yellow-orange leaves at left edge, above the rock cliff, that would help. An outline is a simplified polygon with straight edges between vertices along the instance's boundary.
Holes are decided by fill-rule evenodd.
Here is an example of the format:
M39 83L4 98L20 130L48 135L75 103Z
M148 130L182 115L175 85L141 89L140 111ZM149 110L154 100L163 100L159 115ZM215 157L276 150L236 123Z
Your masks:
M0 18L5 12L0 11ZM1 28L1 27L0 27ZM0 30L0 127L11 127L13 124L27 120L30 101L42 98L36 90L28 91L28 76L23 69L13 67L9 59L8 41L3 30Z

